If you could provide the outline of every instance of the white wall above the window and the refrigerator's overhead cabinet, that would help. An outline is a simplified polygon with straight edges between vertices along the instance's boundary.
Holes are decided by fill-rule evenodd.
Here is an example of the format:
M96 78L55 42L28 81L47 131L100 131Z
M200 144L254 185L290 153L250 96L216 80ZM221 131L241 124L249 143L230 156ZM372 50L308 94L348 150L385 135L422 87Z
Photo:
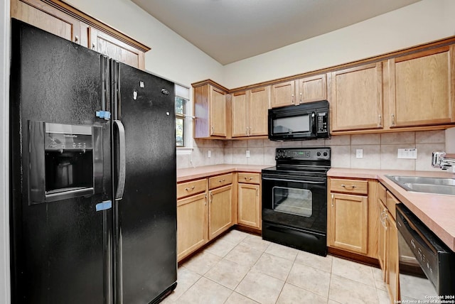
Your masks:
M187 87L212 79L225 82L223 65L178 36L129 0L65 0L76 9L107 23L149 46L146 70Z

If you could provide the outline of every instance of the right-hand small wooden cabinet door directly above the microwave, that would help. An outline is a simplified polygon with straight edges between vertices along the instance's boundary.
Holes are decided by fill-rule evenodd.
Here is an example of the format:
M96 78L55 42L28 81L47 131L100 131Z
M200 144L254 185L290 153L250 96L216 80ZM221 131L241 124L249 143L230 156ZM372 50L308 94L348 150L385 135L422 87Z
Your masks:
M299 82L299 103L316 102L327 99L326 75L305 77Z

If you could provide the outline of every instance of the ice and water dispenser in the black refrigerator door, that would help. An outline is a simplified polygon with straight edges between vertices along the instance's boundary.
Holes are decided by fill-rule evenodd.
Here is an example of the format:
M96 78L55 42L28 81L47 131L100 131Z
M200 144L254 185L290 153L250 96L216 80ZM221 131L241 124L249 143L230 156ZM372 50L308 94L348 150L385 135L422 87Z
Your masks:
M102 182L102 128L29 121L31 204L90 196Z

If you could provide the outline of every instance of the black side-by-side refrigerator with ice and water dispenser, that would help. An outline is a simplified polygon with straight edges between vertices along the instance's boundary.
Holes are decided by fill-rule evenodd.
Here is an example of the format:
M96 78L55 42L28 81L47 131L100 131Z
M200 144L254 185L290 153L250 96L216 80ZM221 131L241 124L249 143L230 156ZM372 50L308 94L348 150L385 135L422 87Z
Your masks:
M176 287L174 85L11 21L13 303Z

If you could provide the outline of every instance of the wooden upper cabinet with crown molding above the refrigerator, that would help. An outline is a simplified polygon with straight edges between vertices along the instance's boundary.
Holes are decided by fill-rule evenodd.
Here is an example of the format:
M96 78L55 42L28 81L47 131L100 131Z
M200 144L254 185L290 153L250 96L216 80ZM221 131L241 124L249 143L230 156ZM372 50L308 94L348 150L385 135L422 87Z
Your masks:
M11 17L127 65L145 68L146 45L59 0L11 0Z

